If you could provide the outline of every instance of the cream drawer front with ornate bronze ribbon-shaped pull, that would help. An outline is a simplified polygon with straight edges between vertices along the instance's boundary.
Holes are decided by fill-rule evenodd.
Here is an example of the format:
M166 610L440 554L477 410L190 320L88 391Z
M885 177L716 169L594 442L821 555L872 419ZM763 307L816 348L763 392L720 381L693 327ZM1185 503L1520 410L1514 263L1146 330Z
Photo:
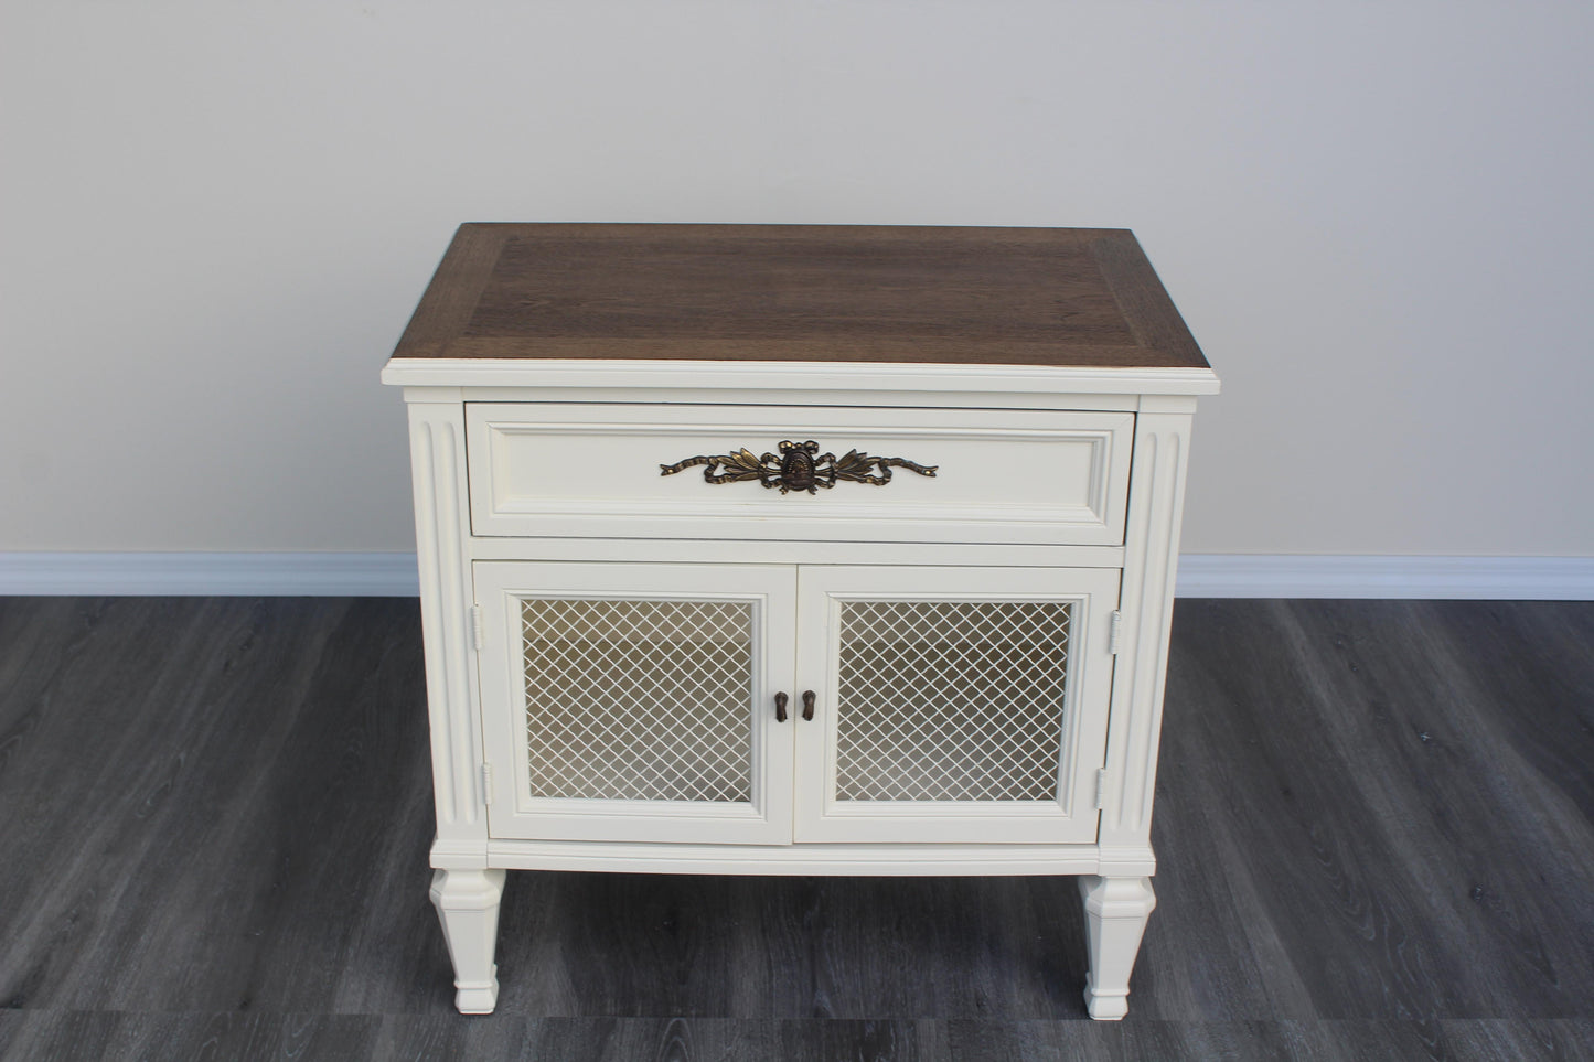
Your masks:
M1122 411L472 402L472 531L1119 545L1133 427Z

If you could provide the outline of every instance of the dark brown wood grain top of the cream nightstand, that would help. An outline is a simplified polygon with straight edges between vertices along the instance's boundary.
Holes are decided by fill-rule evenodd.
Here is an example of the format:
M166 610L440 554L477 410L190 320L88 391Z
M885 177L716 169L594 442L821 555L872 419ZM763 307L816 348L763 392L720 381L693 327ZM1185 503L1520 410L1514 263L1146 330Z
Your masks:
M461 225L394 357L1205 368L1133 233Z

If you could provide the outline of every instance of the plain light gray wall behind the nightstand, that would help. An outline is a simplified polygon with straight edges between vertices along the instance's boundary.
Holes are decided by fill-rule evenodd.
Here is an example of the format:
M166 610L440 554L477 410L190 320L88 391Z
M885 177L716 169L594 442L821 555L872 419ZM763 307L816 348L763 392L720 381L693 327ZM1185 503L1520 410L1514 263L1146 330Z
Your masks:
M1594 555L1594 5L0 3L0 550L406 550L461 220L1133 228L1184 545Z

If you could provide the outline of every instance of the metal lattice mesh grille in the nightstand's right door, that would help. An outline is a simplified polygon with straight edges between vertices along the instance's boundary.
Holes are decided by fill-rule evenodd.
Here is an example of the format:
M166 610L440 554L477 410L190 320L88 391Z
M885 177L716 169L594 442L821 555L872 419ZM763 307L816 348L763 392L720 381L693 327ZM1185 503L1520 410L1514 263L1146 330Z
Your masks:
M842 604L835 799L1055 800L1068 604Z

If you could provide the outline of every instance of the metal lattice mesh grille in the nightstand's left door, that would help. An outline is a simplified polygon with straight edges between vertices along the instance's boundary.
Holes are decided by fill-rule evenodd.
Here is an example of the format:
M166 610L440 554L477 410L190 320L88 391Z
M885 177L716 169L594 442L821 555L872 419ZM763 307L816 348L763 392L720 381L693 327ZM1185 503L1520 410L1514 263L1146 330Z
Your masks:
M531 796L752 800L752 604L521 608Z

